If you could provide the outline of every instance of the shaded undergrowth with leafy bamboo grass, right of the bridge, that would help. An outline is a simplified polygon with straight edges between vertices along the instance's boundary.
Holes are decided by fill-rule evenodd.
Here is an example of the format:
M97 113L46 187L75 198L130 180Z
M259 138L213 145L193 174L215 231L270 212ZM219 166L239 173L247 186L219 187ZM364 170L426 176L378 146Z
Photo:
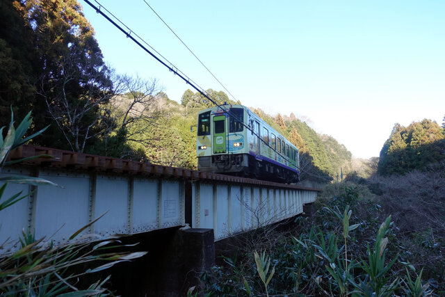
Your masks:
M314 217L297 218L288 232L264 230L243 242L234 256L202 275L193 294L441 296L445 220L432 222L442 219L445 199L438 180L431 188L426 183L437 172L445 171L330 184L318 195ZM414 199L416 191L421 200Z

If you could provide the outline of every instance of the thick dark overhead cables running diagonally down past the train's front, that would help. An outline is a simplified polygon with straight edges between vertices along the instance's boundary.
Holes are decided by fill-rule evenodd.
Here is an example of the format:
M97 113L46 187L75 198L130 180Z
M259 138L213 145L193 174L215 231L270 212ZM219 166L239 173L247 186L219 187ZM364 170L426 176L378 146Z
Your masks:
M161 54L159 54L158 51L156 51L152 46L150 46L147 42L145 42L145 40L143 40L143 38L140 38L139 35L137 35L136 33L134 33L134 31L132 31L127 25L124 24L124 22L122 22L118 17L116 17L115 15L113 15L113 13L111 13L109 10L107 10L101 3L99 3L99 1L95 0L95 2L97 3L97 6L95 6L93 3L91 3L89 0L83 0L85 1L89 6L91 6L91 8L93 8L96 13L99 13L100 15L102 15L103 17L105 17L108 22L111 22L111 24L113 24L116 28L118 28L122 33L124 33L127 38L129 38L130 40L132 40L133 42L136 43L136 45L138 45L139 47L141 47L145 52L147 52L147 54L149 54L150 56L152 56L156 61L158 61L159 63L161 63L162 65L164 65L165 67L168 68L168 70L170 70L171 72L173 72L174 74L176 74L178 77L180 77L183 81L185 81L186 83L188 83L192 88L194 88L195 90L197 90L197 92L199 92L201 95L203 95L204 97L206 97L207 99L210 100L210 102L212 102L213 104L215 104L216 106L218 106L221 110L225 111L225 113L227 113L227 115L232 116L234 119L238 118L236 117L236 115L234 115L234 113L232 113L229 109L226 109L225 107L223 107L222 104L218 104L218 102L216 102L216 99L211 98L210 95L207 94L207 92L201 88L199 85L197 85L197 83L195 83L195 81L191 80L190 78L188 78L186 76L186 74L184 74L184 72L181 72L181 70L179 70L177 67L175 67L175 65L173 65L172 63L170 63L170 61L168 61L165 57L163 57ZM122 26L124 26L128 31L125 31L122 26L120 26L117 22L115 22L113 19L111 19L111 17L109 17L108 15L106 15L106 13L104 13L101 8L103 8L104 10L106 10L107 13L109 13L110 15L113 16L113 18L116 19L117 22L120 22L120 24L122 24ZM136 36L140 41L136 40L136 38L133 37ZM147 47L145 47L143 45L143 43L145 45L147 45L147 47L149 47L150 49L152 49L153 51L156 52L156 54L159 54L159 56L161 56L163 58L163 60L161 58L159 58L158 56L156 56L155 54L152 53L152 51L150 51L149 49L147 49ZM168 65L167 63L170 63L170 65ZM276 148L271 147L266 141L264 141L263 138L261 138L261 136L259 136L252 128L250 128L248 125L245 125L245 123L241 120L238 120L238 122L241 123L241 125L243 125L243 127L245 127L246 129L248 129L254 136L257 136L257 138L262 141L265 145L267 145L268 147L270 147L271 150L273 150L274 152L276 152L278 155L282 156L284 159L286 159L286 156L284 156L281 152L278 152L276 150ZM298 168L298 170L300 170L299 166L296 166Z

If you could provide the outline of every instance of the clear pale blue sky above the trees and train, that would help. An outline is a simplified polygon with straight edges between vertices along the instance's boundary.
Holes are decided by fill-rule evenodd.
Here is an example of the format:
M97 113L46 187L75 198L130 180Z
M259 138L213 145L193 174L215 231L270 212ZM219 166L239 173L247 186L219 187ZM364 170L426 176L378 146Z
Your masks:
M235 99L295 113L354 156L378 156L396 122L442 124L445 1L146 1ZM79 2L106 63L180 102L184 81ZM99 2L202 88L223 90L143 0Z

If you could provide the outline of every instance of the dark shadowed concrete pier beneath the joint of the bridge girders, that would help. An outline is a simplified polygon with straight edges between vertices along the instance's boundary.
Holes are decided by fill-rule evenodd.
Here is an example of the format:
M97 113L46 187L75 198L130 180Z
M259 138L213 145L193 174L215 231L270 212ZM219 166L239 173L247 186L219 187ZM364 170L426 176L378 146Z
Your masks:
M213 229L173 227L122 239L122 245L134 243L129 250L147 255L95 275L95 280L111 275L109 288L120 296L186 296L215 264Z

